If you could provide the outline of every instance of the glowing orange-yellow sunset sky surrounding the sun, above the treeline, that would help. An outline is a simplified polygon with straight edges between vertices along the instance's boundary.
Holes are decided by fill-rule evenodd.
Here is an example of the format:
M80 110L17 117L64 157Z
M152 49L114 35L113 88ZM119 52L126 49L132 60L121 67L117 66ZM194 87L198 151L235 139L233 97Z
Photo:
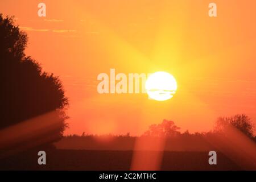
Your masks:
M46 18L37 14L47 6ZM208 16L210 2L217 18ZM0 2L29 37L27 55L63 81L66 134L142 134L170 119L182 131L208 131L219 116L256 121L256 1ZM97 75L166 71L178 89L168 101L145 94L98 94Z

